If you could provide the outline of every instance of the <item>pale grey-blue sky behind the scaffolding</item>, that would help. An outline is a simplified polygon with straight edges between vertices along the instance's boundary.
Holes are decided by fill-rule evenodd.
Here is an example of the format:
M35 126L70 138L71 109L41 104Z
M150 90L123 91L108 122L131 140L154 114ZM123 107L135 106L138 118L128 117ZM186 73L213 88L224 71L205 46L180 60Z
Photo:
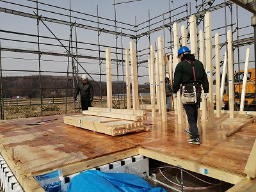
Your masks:
M10 2L14 4L10 4ZM69 17L64 16L63 14L69 15L69 8L70 8L70 1L69 0L44 0L40 1L44 2L45 4L38 4L38 8L40 9L38 15L42 15L43 17L49 17L54 19L60 20L67 20L69 21ZM191 2L191 3L189 3ZM200 5L202 1L198 1L197 5ZM17 4L23 4L24 6L19 6ZM186 10L186 3L188 4L188 13L185 12ZM223 3L223 1L215 1L213 6L219 3ZM46 4L51 4L53 7L47 6ZM114 5L115 4L115 5ZM8 8L11 10L17 10L19 12L26 12L30 14L35 14L36 10L31 9L29 7L35 8L36 3L35 1L27 1L27 0L8 0L8 1L1 1L0 0L0 8ZM121 1L121 0L93 0L93 1L82 1L82 0L72 0L71 1L71 9L75 10L76 13L72 13L74 19L72 22L77 22L78 24L85 24L88 26L93 26L97 28L97 17L92 17L99 15L99 28L109 29L115 31L115 27L109 26L109 24L114 25L113 21L109 20L118 20L119 27L123 29L118 29L119 31L122 30L122 33L129 33L130 35L134 35L135 25L138 25L138 29L141 32L148 31L148 18L154 20L150 21L151 24L157 22L152 28L156 26L160 26L163 24L163 18L167 18L168 11L173 10L171 13L172 19L179 19L180 17L185 17L189 13L196 13L196 3L195 1L170 1L170 0L141 0L141 1ZM65 8L67 10L60 10L59 8ZM238 17L237 17L237 9L238 9ZM45 12L47 10L48 12ZM35 12L35 13L34 13ZM234 31L237 27L239 28L239 33L234 33L234 38L247 38L249 36L253 36L253 28L246 26L250 26L250 19L253 16L252 13L244 10L241 7L236 8L236 6L232 6L232 17L230 17L230 8L227 8L227 25L231 23L236 23L233 26L232 30ZM58 13L58 15L56 14ZM86 15L81 14L86 13ZM166 13L163 15L163 13ZM159 16L159 17L158 17ZM92 22L93 21L93 22ZM45 25L44 25L45 24ZM39 24L39 35L41 36L49 36L51 39L41 38L40 42L40 51L47 51L47 52L58 52L58 53L65 53L67 52L67 48L64 49L61 44L68 47L70 44L68 40L70 39L70 27L64 26L52 22L40 22ZM186 26L186 22L179 23L179 27L182 25ZM222 8L220 10L216 10L212 12L212 36L215 33L220 33L221 42L225 42L225 9ZM129 28L129 30L127 30ZM12 49L31 49L31 50L38 50L37 42L37 25L36 19L31 19L27 17L20 17L17 15L12 15L9 13L0 12L0 29L4 31L13 31L19 33L26 33L35 36L24 36L24 35L17 35L11 33L4 33L0 32L1 38L1 47L2 48L12 48ZM204 29L204 25L201 23L198 26L198 30ZM227 29L231 29L228 26ZM246 34L250 35L246 35ZM75 35L76 34L76 35ZM60 39L60 42L54 39L56 36ZM162 31L153 33L150 35L150 45L156 45L157 37L164 36L164 45L166 47L170 45L170 39L172 38L172 33L168 29L164 29ZM116 45L122 48L129 48L129 42L131 39L118 36L115 38L115 35L109 35L108 33L100 33L98 36L97 31L91 31L81 28L73 28L72 29L72 39L77 40L79 42L86 42L86 44L92 45L84 45L79 44L78 47L83 49L78 50L78 54L85 55L85 56L95 56L95 57L103 57L105 58L105 49L106 47L111 47L111 58L118 58L119 60L123 59L121 54L121 49L118 49L119 54L115 54L116 52ZM8 40L6 40L8 39ZM28 42L17 42L15 40L22 40L22 41L29 41ZM100 41L100 47L98 46L98 42ZM45 45L44 45L45 44ZM55 46L46 45L46 44L54 44ZM214 44L214 39L212 38L212 44ZM75 44L73 44L75 46ZM143 36L138 40L138 61L147 60L148 59L148 47L149 41L147 36ZM234 52L234 63L238 61L238 54L240 57L240 61L244 62L245 60L245 51L248 46L239 48L239 53L235 50ZM253 56L253 46L251 45L251 55L250 61L254 61ZM98 50L100 49L100 54ZM74 49L76 51L76 49ZM166 52L170 52L167 48L164 49ZM224 55L225 48L221 49L221 55ZM57 76L66 76L67 71L71 71L70 65L67 65L68 58L61 57L61 56L45 56L42 55L40 57L40 70L42 71L41 74L43 75L57 75ZM70 60L69 60L70 61ZM91 77L95 81L100 80L99 73L101 71L102 81L106 80L106 64L104 61L102 63L98 60L85 60L85 59L78 59L79 63L83 66L83 68L88 72ZM39 70L39 63L38 63L38 55L37 54L24 54L20 52L8 52L8 51L1 51L1 65L3 69L3 76L29 76L38 74ZM236 65L235 65L236 66ZM243 63L241 64L243 67ZM249 67L254 66L253 62L250 62ZM83 74L84 69L79 68L79 73ZM21 71L21 70L28 70L28 71ZM139 67L139 82L140 83L147 83L148 80L148 68L147 63L142 63ZM124 68L120 63L112 62L112 74L113 79L116 80L117 74L125 74ZM119 78L119 77L118 77ZM123 77L120 77L122 80Z

